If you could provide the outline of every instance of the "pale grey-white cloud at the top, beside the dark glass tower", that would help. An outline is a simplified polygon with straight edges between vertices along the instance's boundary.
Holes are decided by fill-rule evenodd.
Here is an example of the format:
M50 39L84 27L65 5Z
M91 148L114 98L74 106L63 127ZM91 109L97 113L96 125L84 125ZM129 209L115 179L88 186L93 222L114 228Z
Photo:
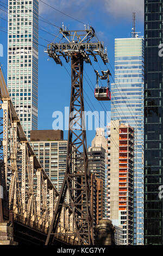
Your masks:
M143 0L103 0L106 11L112 16L120 18L131 18L136 13L137 19L143 19Z

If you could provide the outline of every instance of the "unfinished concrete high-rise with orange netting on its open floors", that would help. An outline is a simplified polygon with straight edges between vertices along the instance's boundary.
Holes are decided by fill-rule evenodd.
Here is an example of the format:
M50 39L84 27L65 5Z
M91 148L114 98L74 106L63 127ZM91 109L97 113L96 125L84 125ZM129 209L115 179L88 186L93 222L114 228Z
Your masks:
M110 220L123 229L123 245L134 243L134 128L110 124Z

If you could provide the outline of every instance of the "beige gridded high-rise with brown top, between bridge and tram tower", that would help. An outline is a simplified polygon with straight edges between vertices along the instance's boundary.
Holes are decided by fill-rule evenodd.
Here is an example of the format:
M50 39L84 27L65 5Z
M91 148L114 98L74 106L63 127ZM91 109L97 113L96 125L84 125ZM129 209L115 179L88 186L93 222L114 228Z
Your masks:
M66 172L67 141L63 131L31 131L30 144L45 172L58 191Z

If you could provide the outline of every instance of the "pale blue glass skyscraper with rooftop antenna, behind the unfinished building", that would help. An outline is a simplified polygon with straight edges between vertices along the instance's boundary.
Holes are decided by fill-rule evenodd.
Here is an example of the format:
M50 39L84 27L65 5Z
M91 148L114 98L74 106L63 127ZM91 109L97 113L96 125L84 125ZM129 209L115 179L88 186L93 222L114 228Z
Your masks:
M115 39L115 84L111 84L111 120L135 129L134 244L143 245L144 40Z

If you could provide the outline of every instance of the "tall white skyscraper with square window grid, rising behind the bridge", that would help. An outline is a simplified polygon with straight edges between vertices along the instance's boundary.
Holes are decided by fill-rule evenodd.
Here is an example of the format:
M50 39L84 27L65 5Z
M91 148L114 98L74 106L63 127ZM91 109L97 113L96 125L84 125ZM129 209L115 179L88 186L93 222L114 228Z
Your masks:
M37 130L39 1L8 5L8 90L29 139Z

